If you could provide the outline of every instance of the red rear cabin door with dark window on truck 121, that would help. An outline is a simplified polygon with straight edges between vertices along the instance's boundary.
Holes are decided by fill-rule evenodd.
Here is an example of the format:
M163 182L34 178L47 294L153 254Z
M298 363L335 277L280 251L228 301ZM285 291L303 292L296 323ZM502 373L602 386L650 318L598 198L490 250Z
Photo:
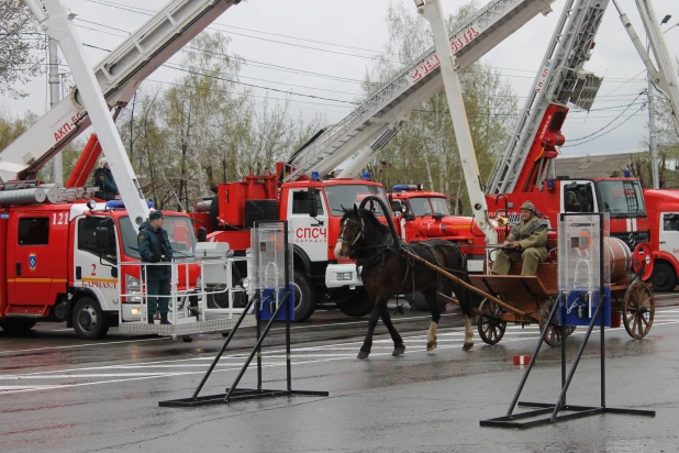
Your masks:
M14 223L15 222L15 223ZM10 229L13 246L8 247L8 298L11 305L45 306L49 300L53 256L49 248L49 214L19 213ZM10 242L10 241L8 241ZM64 285L64 281L60 281Z

